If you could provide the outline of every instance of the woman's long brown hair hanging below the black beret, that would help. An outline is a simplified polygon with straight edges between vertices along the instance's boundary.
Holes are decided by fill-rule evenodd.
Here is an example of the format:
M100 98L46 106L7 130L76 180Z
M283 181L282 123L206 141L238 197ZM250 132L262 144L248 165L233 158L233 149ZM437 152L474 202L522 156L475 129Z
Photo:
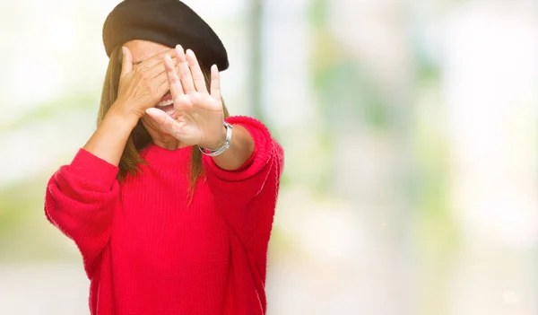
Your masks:
M121 65L122 65L123 54L121 54L121 47L114 48L110 54L110 59L108 61L107 74L105 75L105 81L103 84L103 91L101 93L100 109L97 118L97 126L99 127L103 118L110 109L110 106L117 99L117 89L119 87L119 76L121 74ZM209 89L211 83L211 70L210 68L205 67L200 64L202 67L202 72L204 73L205 83ZM230 116L224 101L222 101L222 107L224 110L224 118ZM121 160L119 162L119 173L118 179L125 179L127 174L136 175L140 171L138 166L140 164L145 164L143 158L140 156L140 152L147 145L152 143L152 137L147 132L145 127L143 127L142 122L139 120L134 127L131 135L127 139L126 147L122 153ZM189 174L189 190L191 193L194 192L196 181L204 174L204 168L202 166L202 153L200 150L192 150L191 155L191 167ZM192 195L191 195L192 196Z

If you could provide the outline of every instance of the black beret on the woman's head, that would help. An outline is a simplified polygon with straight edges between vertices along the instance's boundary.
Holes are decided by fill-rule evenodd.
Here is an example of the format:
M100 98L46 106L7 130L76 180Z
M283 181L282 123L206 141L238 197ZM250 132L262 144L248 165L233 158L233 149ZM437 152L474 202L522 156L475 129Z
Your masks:
M187 4L179 0L125 0L108 13L103 25L107 56L129 40L150 40L169 48L191 48L200 62L219 70L229 66L221 39Z

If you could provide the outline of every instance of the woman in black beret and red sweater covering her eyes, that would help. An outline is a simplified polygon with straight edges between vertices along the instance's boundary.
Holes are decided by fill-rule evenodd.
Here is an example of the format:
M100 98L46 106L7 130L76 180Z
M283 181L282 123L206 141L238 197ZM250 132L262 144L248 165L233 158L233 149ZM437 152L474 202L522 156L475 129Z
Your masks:
M97 130L45 201L82 253L91 314L265 314L283 153L228 117L220 39L177 0L126 0L103 40Z

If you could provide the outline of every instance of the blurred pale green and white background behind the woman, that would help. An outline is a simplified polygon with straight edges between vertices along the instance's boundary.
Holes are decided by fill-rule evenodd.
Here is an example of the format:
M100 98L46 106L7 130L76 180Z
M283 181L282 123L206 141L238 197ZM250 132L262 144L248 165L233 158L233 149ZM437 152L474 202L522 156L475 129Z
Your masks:
M95 128L115 0L0 3L0 314L88 314L48 178ZM538 313L538 3L190 0L286 164L269 315Z

